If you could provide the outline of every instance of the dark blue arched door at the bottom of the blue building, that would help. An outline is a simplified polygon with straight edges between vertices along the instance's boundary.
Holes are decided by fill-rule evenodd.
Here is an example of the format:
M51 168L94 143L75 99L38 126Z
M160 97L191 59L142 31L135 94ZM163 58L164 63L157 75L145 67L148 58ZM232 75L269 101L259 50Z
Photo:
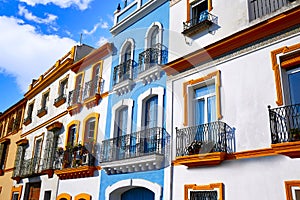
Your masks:
M154 193L147 188L138 187L127 190L121 195L121 200L154 200Z

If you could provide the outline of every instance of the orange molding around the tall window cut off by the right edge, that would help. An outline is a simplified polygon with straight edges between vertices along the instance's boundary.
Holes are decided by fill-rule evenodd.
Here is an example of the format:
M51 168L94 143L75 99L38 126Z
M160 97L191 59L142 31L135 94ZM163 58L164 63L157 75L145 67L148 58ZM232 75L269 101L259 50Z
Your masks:
M272 62L272 69L274 71L274 78L275 78L275 86L276 86L276 94L277 94L277 100L276 104L278 106L283 105L283 90L282 90L282 85L281 85L281 73L280 73L280 63L278 63L277 56L279 54L287 54L289 52L299 50L300 49L300 43L292 45L292 46L285 46L281 47L279 49L276 49L274 51L271 51L271 62ZM285 62L283 62L282 66L283 68L288 68L292 65L296 65L297 63L300 63L300 58L299 57L294 57L291 58Z

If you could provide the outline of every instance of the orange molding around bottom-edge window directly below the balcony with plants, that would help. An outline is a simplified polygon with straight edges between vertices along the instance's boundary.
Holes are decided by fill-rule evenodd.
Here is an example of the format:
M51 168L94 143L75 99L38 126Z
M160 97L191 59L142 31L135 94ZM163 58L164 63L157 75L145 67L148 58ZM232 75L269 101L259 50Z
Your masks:
M218 200L224 200L223 188L223 183L211 183L209 185L186 184L184 185L184 200L189 200L190 190L217 190L219 197Z

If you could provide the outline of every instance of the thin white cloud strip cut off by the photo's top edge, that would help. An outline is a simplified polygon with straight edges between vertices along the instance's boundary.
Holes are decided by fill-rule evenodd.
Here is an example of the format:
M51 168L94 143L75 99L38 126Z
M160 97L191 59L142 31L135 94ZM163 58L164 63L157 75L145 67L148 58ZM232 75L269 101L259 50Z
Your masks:
M85 10L88 8L89 4L93 0L19 0L25 2L28 5L35 6L36 4L47 5L53 3L61 8L68 8L71 6L77 6L80 10Z

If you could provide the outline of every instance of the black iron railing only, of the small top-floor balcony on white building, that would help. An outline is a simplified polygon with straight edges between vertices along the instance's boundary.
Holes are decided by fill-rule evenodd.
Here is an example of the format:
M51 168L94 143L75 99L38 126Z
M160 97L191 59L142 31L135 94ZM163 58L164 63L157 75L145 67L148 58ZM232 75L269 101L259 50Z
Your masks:
M208 11L203 11L199 16L192 18L187 22L183 22L183 33L187 33L188 30L192 28L200 28L201 25L207 26L212 25L213 23L217 23L217 17L209 13Z

